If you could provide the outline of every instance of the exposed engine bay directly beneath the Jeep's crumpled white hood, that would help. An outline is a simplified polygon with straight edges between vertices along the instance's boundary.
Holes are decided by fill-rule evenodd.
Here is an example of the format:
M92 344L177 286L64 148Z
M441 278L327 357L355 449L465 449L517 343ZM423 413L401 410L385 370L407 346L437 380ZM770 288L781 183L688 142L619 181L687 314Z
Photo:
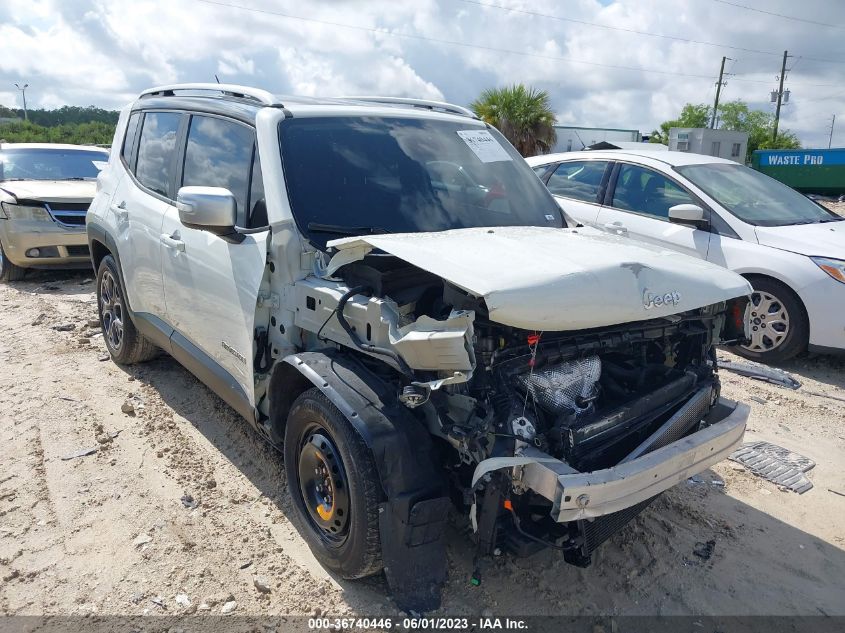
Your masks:
M405 401L455 449L456 470L526 445L579 471L618 463L702 388L716 401L713 346L726 324L737 327L721 303L594 330L526 331L489 320L483 300L391 256L369 255L340 276L390 299L403 324L474 314L469 380ZM438 378L414 373L414 385Z

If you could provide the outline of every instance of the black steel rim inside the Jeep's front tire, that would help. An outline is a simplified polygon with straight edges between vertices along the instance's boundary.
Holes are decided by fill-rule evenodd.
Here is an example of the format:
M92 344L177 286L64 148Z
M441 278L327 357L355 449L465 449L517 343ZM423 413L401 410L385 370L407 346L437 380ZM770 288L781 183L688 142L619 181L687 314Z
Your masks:
M320 536L342 542L349 531L349 485L340 453L328 432L315 425L299 450L299 492Z

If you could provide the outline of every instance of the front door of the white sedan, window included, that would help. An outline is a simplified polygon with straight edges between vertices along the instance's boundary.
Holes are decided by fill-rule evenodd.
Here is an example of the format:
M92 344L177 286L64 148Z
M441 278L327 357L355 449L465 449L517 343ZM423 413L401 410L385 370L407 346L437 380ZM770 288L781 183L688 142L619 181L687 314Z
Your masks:
M677 181L641 165L618 163L611 176L610 203L602 207L598 224L606 231L628 235L650 244L707 258L711 234L669 221L669 209L697 200Z

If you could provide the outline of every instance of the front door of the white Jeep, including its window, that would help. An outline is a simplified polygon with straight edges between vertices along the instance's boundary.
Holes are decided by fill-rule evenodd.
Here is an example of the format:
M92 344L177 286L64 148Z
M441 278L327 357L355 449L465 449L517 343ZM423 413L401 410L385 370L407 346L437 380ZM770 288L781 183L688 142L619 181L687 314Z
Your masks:
M181 186L192 185L228 189L237 202L240 226L266 225L251 127L216 116L191 116ZM174 354L187 348L193 355L188 362L199 359L209 365L203 371L223 382L223 393L217 391L230 404L244 397L255 404L253 328L268 236L269 230L220 237L188 228L175 208L168 209L159 232L167 316L176 330ZM227 390L240 393L230 393L230 399Z

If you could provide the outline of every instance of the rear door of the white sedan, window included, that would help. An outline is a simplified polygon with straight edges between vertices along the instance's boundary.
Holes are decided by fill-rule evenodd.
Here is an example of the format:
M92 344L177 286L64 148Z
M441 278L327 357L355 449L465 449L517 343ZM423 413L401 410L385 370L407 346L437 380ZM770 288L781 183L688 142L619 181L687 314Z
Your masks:
M595 226L607 184L607 160L560 163L546 179L546 187L564 213L580 224Z

